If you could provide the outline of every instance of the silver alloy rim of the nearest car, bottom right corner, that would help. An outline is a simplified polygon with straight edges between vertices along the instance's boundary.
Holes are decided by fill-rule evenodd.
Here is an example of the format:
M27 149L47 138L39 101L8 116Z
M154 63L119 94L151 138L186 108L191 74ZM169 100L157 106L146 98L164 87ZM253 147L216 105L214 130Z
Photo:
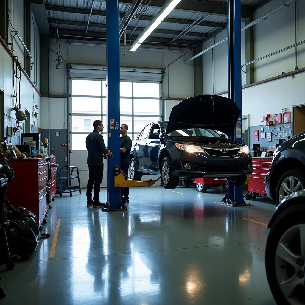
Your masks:
M291 305L303 304L305 280L305 224L284 232L275 253L278 285Z

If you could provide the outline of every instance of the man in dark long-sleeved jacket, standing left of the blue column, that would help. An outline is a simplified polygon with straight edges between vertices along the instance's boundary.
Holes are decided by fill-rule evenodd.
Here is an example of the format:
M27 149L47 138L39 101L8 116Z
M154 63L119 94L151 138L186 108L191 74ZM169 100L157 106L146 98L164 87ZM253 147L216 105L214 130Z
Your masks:
M86 138L86 148L88 150L87 164L89 168L89 180L87 184L87 206L98 208L105 205L99 201L99 191L101 189L104 173L103 155L113 156L113 153L110 151L111 149L106 149L104 138L100 134L100 132L104 129L102 121L95 120L93 122L93 127L94 131L92 131Z

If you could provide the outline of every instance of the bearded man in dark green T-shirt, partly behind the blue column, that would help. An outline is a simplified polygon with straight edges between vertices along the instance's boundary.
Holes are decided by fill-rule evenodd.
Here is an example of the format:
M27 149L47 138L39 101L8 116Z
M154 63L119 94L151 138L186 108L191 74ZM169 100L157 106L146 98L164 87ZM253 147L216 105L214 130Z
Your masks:
M122 124L120 127L120 134L121 134L121 170L128 175L128 168L129 168L129 156L131 150L131 138L127 135L128 125ZM121 200L123 203L129 202L129 188L121 188Z

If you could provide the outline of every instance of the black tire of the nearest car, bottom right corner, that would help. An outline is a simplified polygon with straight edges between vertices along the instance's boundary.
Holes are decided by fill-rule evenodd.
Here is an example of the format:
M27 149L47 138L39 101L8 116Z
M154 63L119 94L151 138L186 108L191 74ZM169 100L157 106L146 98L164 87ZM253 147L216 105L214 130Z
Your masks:
M304 227L305 206L301 202L292 204L282 211L271 226L266 243L265 266L268 283L277 304L292 304L287 300L287 296L291 291L289 289L286 291L285 289L284 291L282 290L282 287L284 287L283 282L285 281L291 282L292 285L295 281L301 282L298 289L294 290L297 299L298 296L300 299L294 299L294 295L291 295L291 300L293 299L293 304L304 303L304 286L302 285L304 278L299 279L299 277L303 276L304 266L300 267L300 265L304 262L298 261L298 256L302 254L304 257L305 249L301 253L301 245L303 242L300 239L300 236L304 236ZM301 234L301 232L303 233ZM282 257L286 259L282 259ZM298 270L300 269L302 271L298 275L300 272Z

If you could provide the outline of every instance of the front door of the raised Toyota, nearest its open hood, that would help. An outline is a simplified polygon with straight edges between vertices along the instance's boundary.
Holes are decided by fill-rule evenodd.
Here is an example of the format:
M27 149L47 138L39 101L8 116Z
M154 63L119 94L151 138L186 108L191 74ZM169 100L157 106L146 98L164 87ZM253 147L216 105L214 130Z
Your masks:
M152 132L158 132L160 135L161 127L158 123L152 124L149 134ZM149 139L149 137L147 137L147 140L144 144L145 168L147 170L159 171L158 155L159 155L160 145L161 145L160 139L151 140Z

